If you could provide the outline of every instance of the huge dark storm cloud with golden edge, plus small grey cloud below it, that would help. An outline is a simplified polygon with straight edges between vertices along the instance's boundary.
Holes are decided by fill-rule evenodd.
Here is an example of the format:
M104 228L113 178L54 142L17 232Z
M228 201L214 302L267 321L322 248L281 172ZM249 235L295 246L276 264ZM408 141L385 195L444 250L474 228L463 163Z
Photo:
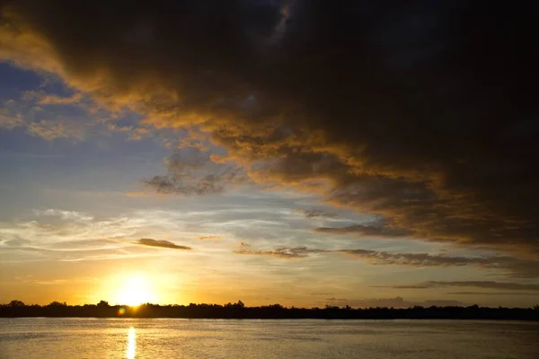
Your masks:
M539 253L536 2L6 4L0 58L197 125L252 179L418 238ZM147 182L216 193L227 176Z

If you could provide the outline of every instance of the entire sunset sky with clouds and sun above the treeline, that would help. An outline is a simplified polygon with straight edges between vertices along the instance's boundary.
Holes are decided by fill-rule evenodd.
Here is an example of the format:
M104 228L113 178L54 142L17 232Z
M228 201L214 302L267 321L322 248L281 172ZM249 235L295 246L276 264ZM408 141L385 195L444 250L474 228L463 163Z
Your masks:
M536 4L135 3L0 4L0 302L539 303Z

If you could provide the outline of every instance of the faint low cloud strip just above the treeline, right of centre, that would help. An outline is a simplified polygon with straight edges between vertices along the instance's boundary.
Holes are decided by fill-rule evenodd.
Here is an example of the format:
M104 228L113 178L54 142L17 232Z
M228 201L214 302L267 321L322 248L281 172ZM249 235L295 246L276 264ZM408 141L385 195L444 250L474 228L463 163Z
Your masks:
M404 300L402 297L394 298L370 298L370 299L345 299L345 298L335 298L331 297L326 299L326 302L331 305L345 306L349 305L351 307L360 307L360 308L410 308L415 305L420 305L422 307L446 307L446 306L463 306L463 302L452 301L452 300L428 300L423 302L410 302Z

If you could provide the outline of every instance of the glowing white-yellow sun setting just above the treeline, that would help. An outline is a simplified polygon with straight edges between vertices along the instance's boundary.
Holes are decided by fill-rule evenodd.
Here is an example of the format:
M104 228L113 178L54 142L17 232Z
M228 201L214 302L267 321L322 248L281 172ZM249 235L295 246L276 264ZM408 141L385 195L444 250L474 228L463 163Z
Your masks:
M119 304L137 306L155 302L155 291L146 276L126 276L119 281L116 298Z

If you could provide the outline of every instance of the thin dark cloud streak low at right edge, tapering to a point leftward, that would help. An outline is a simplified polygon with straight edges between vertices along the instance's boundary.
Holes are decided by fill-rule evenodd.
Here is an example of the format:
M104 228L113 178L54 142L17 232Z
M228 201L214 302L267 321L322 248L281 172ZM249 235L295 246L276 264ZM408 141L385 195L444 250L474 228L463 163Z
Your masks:
M495 281L428 281L417 285L392 285L392 286L380 286L375 285L375 288L393 288L393 289L429 289L440 287L474 287L485 289L501 289L511 291L539 291L539 285L534 284L520 284L511 282L495 282Z

